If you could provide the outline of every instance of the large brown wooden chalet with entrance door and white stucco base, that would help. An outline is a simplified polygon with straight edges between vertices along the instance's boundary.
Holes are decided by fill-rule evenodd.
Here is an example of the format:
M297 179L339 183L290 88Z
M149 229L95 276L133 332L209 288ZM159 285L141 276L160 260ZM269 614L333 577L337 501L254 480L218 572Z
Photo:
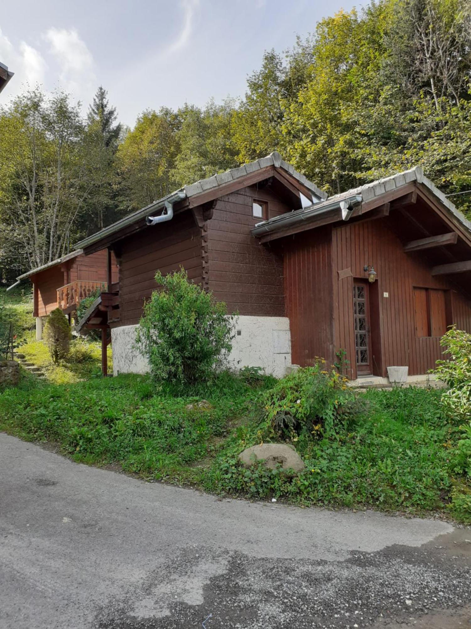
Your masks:
M471 224L418 168L327 198L272 153L77 246L116 256L119 285L90 323L111 328L115 372L146 370L134 330L156 270L180 266L237 312L236 367L281 376L345 350L352 379L396 365L414 376L447 326L471 331Z

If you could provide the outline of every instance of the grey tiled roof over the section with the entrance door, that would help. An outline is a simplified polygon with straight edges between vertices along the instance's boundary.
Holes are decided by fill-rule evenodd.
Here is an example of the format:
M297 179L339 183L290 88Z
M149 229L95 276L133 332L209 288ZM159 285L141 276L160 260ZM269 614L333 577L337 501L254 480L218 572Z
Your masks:
M268 221L257 223L254 229L252 229L252 234L254 236L262 236L264 233L281 231L288 228L288 226L296 225L297 223L307 223L311 218L318 218L320 214L327 213L332 209L340 208L340 203L342 201L346 204L371 202L376 198L380 198L387 192L399 189L414 181L425 186L426 189L428 189L428 191L430 191L431 194L433 194L433 196L435 196L440 203L445 206L447 211L457 218L462 227L471 233L471 222L468 221L468 219L455 207L455 205L447 199L445 194L443 194L443 192L441 192L435 184L430 181L430 179L425 177L423 170L419 166L416 166L413 169L404 170L396 175L391 175L391 177L378 179L377 181L372 181L364 186L352 188L346 192L340 192L340 194L328 197L321 203L308 206L307 208L297 209L286 214L280 214L279 216L274 216L274 218L271 218Z

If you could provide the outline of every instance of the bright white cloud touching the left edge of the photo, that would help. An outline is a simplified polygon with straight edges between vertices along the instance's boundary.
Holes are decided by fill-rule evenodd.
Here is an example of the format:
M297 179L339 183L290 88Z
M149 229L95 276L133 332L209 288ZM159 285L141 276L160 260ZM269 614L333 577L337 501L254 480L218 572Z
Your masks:
M41 53L20 42L15 48L8 37L0 30L0 61L14 72L14 78L9 82L3 96L16 96L26 84L33 87L36 83L43 83L47 65Z

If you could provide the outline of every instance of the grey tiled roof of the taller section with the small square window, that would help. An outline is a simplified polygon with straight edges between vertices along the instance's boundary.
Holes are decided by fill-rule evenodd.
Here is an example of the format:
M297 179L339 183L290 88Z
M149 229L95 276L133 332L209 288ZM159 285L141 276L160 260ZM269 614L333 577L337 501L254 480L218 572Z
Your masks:
M295 170L291 164L288 164L283 159L281 159L281 155L278 152L270 153L267 157L262 157L261 159L256 160L255 162L250 162L250 164L244 164L238 168L233 168L231 170L226 170L226 172L222 172L220 174L213 175L212 177L208 177L208 179L201 179L200 181L191 184L190 186L183 186L179 190L168 194L167 196L159 199L158 201L154 201L150 205L145 208L139 209L133 214L129 214L125 216L121 220L109 225L101 231L97 231L92 236L85 238L77 243L77 247L85 248L90 245L102 240L102 238L106 238L113 233L121 230L127 225L132 225L133 223L137 223L140 220L145 220L146 216L148 216L149 212L154 212L160 208L163 208L165 205L165 201L171 201L175 203L176 201L183 201L183 199L190 199L193 196L197 196L198 194L202 194L203 192L207 192L210 190L215 190L221 186L225 186L225 184L229 184L232 181L237 181L237 179L243 179L247 177L247 175L256 172L257 170L264 169L269 166L274 166L277 169L282 169L288 172L292 177L300 182L303 186L305 186L313 196L317 199L326 199L327 194L323 192L320 188L318 188L313 182L306 179L304 175ZM224 194L224 193L223 193Z

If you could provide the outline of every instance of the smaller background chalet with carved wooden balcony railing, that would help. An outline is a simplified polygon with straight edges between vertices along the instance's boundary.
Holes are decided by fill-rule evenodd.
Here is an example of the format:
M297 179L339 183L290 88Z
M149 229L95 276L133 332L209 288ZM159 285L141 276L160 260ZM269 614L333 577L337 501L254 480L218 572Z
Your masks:
M108 256L110 257L108 264ZM110 278L117 280L114 255L106 249L85 256L81 249L32 269L17 277L17 282L30 279L33 282L33 316L36 318L36 338L41 339L43 320L55 308L73 316L77 306L97 289L106 290Z

